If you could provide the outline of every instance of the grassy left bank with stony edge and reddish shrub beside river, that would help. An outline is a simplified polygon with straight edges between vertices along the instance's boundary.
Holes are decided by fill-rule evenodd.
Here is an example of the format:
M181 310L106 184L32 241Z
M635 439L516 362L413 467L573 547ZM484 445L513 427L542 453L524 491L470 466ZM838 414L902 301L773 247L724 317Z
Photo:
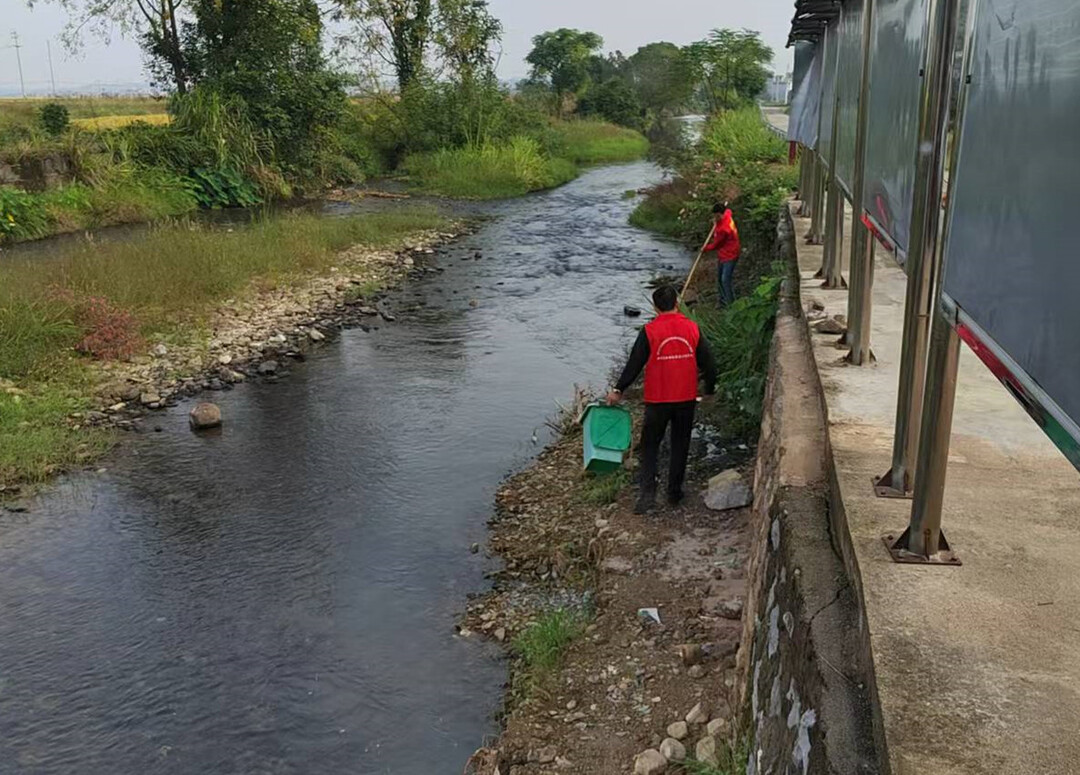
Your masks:
M437 272L462 226L430 208L173 226L0 264L0 497L91 465L201 391L276 379L382 293Z

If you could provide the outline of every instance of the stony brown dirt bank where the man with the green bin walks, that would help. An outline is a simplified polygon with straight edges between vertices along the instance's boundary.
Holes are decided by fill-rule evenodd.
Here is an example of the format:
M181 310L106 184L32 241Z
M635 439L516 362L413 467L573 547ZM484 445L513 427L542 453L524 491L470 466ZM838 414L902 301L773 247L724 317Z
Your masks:
M584 500L579 432L499 492L489 550L503 568L494 592L469 607L462 634L498 639L514 654L515 637L544 610L577 608L591 618L546 675L527 675L515 658L504 732L467 772L632 772L635 757L659 748L669 725L699 703L703 712L681 740L689 757L705 722L721 719L712 729L728 737L748 509L705 508L707 476L726 466L702 459L706 448L715 457L716 445L699 438L694 447L686 502L661 500L646 516L633 514L630 484L608 505ZM650 608L659 623L639 613Z

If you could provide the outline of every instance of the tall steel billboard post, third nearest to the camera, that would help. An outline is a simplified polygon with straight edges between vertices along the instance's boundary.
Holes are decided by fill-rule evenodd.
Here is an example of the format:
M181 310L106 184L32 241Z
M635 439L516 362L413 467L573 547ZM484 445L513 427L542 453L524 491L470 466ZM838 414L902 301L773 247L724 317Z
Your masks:
M851 283L848 293L848 331L845 343L851 348L848 361L862 366L870 361L869 316L874 290L874 243L863 225L863 193L866 181L866 138L870 113L870 39L874 36L876 0L863 5L863 72L859 83L859 112L855 119L855 169L851 181ZM867 243L867 241L870 241ZM867 244L869 249L867 249Z

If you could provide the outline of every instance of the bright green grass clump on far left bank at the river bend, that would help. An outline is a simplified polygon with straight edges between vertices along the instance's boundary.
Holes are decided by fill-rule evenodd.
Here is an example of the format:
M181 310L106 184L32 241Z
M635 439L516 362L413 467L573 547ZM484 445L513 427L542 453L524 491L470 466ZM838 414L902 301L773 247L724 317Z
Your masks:
M405 171L426 191L445 196L504 199L572 180L577 168L565 159L544 155L536 140L455 148L410 157Z

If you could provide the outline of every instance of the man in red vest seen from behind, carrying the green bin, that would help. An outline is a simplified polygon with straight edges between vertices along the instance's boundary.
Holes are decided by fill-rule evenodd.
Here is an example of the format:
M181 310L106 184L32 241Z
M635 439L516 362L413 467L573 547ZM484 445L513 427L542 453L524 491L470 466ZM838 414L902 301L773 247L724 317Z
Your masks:
M678 291L663 285L652 294L652 304L657 316L637 336L626 368L607 397L609 405L621 402L623 391L645 369L642 489L634 509L637 514L645 514L656 505L657 458L669 424L672 437L667 502L677 505L683 501L699 379L704 380L705 395L713 395L716 390L716 362L708 340L701 335L697 323L678 312Z

